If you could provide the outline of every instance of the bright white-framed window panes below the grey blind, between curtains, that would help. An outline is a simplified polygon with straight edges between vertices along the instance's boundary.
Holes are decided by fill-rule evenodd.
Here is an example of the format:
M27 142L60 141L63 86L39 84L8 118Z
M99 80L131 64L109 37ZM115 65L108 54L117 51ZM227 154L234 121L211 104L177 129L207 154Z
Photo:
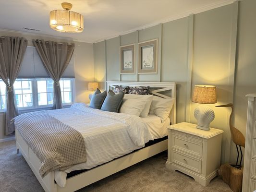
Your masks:
M17 79L13 85L19 109L52 107L53 81L44 79ZM73 78L60 80L62 104L73 104ZM0 110L5 108L6 86L0 81Z

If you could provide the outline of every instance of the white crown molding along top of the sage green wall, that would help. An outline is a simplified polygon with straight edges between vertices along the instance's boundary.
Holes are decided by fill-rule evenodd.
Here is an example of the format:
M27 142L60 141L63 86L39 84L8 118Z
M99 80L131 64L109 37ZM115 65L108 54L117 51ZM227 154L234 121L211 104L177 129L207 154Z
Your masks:
M220 0L219 2L215 2L215 3L209 4L209 5L197 8L197 9L190 10L188 12L183 12L181 14L177 14L177 15L165 18L165 19L161 19L161 20L158 20L158 21L156 21L154 23L151 23L151 24L145 24L145 25L136 27L136 28L128 30L128 31L124 31L124 32L121 32L121 33L116 33L116 34L113 34L111 36L105 36L104 38L101 38L101 39L98 39L98 40L94 41L94 43L98 43L98 42L101 42L101 41L104 41L104 40L107 40L107 39L111 39L111 38L114 38L114 37L117 37L117 36L122 36L122 35L126 35L126 34L129 34L129 33L133 33L135 31L139 31L139 30L142 30L142 29L153 27L153 26L156 26L158 24L164 24L164 23L167 23L167 22L170 22L170 21L174 21L174 20L177 20L177 19L188 17L189 15L192 15L192 14L197 14L197 13L200 13L200 12L206 12L206 11L218 8L218 7L222 7L222 6L225 6L225 5L232 4L235 1L240 1L240 0Z

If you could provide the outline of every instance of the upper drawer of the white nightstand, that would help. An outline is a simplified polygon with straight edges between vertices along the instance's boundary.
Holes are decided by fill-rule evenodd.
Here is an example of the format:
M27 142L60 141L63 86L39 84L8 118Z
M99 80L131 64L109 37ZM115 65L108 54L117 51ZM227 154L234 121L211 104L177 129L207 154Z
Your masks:
M173 149L182 150L185 153L202 157L203 143L176 134L171 135L171 141Z

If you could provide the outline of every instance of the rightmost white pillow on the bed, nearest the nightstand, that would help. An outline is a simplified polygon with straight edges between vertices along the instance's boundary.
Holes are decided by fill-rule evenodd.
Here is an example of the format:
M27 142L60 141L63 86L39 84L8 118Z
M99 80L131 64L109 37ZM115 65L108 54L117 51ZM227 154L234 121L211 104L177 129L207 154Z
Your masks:
M161 121L165 121L170 115L171 108L174 104L175 98L166 99L159 96L154 96L150 106L149 114L155 114Z

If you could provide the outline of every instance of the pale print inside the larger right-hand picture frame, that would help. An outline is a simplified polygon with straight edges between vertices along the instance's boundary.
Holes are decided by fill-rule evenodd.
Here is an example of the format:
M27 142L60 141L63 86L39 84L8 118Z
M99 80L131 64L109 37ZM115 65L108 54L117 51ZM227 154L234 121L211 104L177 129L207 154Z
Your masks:
M154 46L142 48L142 69L154 69Z

